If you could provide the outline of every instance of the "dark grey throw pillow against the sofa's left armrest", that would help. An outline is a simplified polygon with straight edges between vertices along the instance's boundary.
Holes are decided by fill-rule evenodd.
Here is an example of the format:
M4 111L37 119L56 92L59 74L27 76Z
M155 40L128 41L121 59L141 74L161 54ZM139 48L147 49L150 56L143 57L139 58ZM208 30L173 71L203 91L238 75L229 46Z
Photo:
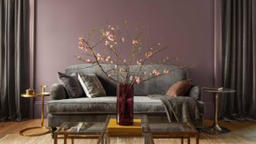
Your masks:
M78 74L66 75L58 72L58 81L64 86L70 98L81 98L86 94L78 80Z

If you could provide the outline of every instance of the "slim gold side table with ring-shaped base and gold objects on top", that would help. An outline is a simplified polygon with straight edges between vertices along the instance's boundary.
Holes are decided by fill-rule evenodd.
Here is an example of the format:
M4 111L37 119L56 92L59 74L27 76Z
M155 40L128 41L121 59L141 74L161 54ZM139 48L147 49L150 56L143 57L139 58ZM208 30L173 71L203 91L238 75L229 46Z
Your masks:
M42 109L41 109L41 126L33 126L33 127L27 127L25 129L22 129L19 131L19 134L22 136L28 136L28 137L34 137L34 136L40 136L43 134L48 134L50 133L50 130L47 126L43 126L43 115L44 115L44 102L45 102L45 97L50 96L50 93L45 92L46 86L41 86L41 92L38 94L21 94L22 97L24 98L36 98L36 97L41 97L42 98ZM25 131L28 130L34 130L38 129L40 132L36 134L24 134Z

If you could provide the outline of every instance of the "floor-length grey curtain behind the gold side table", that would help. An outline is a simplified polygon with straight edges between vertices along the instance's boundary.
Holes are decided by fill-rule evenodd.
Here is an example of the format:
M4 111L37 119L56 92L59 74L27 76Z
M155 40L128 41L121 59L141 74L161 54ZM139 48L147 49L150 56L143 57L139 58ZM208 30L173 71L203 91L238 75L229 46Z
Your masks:
M0 121L28 118L29 1L0 0Z

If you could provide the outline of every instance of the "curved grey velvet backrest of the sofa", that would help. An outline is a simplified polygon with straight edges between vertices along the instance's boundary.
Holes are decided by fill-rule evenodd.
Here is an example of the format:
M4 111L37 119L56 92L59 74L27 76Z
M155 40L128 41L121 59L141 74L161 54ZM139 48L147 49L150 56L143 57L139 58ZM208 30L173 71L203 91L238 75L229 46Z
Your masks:
M143 72L152 73L152 71L158 68L160 65L145 65L142 66L142 75ZM102 64L104 70L110 70L109 66ZM137 66L130 66L130 70L136 69ZM140 84L134 84L134 95L147 96L149 94L166 94L166 91L173 85L175 82L187 79L186 70L178 66L162 65L162 69L170 70L171 74L166 74L162 77L152 78L149 81L142 82ZM69 66L66 68L66 74L72 73L82 73L82 74L96 74L102 86L106 90L106 95L113 96L116 95L116 83L107 78L105 74L102 73L102 70L99 66L92 66L91 64L81 64ZM140 76L142 76L140 75Z

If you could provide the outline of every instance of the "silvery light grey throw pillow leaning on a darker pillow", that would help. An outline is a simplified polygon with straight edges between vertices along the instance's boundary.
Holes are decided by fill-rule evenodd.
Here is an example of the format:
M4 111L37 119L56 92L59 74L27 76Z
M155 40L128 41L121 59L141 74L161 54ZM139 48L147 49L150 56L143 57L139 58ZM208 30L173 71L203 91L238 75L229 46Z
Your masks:
M78 74L78 80L82 85L82 89L86 92L89 98L106 96L102 83L98 80L96 74Z

